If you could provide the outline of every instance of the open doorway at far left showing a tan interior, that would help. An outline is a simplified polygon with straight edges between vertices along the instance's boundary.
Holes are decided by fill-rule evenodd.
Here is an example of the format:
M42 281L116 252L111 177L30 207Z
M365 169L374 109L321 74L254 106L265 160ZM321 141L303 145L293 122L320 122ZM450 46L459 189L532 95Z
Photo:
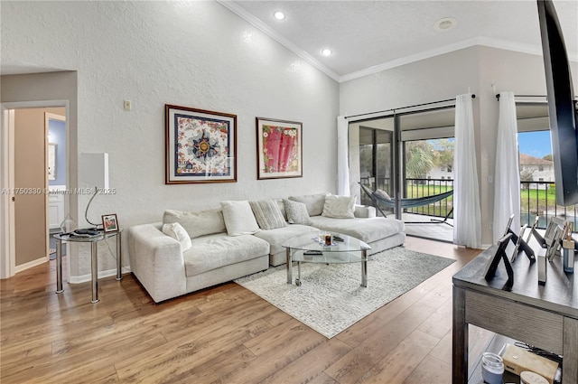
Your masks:
M3 278L50 259L49 179L58 174L55 167L59 156L56 137L54 142L49 138L48 123L51 119L63 123L60 149L66 156L67 104L66 101L3 104L2 149L5 155L2 168L5 177L2 184L3 191L9 192L2 201ZM51 170L49 162L53 163ZM66 161L61 160L61 165L64 167L60 168L62 176L66 177ZM65 210L65 204L66 201L62 201L62 210Z

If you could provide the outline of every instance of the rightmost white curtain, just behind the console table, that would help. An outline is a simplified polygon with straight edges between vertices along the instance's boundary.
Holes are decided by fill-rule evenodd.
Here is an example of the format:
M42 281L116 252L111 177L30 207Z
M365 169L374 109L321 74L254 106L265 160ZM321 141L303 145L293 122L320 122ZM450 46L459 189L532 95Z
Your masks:
M513 92L499 94L496 171L494 173L494 242L502 237L509 217L514 213L511 229L520 228L520 172L517 158L516 102Z

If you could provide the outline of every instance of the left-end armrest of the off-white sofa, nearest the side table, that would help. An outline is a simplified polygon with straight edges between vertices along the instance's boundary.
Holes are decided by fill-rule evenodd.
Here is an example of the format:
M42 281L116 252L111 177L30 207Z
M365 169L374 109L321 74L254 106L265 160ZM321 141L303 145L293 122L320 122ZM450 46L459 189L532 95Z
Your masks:
M154 224L128 229L128 258L131 270L155 303L187 293L181 244Z

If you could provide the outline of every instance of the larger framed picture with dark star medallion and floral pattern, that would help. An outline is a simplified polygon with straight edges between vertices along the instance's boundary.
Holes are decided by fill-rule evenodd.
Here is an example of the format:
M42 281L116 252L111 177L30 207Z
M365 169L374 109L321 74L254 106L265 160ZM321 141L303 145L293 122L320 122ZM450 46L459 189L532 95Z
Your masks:
M236 183L237 115L166 104L165 183Z

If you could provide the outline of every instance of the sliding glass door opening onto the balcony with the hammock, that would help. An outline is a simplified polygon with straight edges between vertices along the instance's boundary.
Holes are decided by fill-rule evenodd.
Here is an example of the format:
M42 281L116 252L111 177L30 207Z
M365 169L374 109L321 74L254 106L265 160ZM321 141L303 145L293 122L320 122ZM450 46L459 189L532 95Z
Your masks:
M446 192L453 187L454 115L451 105L350 122L350 180L387 192L394 202L379 203L378 215L408 224L451 223ZM374 203L363 188L357 191L360 203ZM447 229L443 239L452 241Z

